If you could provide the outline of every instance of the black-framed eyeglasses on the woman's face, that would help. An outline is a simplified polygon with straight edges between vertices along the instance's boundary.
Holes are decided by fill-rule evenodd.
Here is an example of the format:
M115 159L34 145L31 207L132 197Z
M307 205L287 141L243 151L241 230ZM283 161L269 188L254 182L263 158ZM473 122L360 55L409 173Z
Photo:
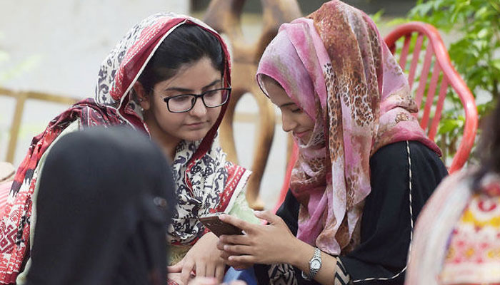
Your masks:
M231 87L208 90L200 94L181 94L163 98L171 113L188 112L201 97L206 108L216 108L227 103Z

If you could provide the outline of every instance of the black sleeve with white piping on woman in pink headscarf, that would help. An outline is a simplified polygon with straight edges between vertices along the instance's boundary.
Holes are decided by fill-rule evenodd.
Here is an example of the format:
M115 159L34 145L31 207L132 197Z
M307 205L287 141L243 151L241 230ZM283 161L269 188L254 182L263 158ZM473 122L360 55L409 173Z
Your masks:
M410 160L407 142L396 142L371 157L361 243L340 257L356 284L404 284L416 217L447 175L438 155L420 142L409 142L409 153Z

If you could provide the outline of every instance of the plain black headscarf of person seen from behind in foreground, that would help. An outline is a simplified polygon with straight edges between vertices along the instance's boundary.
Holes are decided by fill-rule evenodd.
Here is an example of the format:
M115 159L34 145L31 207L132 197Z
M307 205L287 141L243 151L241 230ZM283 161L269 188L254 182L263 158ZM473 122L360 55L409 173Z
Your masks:
M36 200L27 284L166 284L171 169L134 130L64 135Z

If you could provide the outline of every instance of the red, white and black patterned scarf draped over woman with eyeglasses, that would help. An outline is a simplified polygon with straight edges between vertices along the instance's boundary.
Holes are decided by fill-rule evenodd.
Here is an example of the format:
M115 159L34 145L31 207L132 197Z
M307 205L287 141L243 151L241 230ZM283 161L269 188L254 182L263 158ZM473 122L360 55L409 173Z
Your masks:
M0 222L0 284L14 283L29 249L31 196L36 187L36 166L56 137L74 120L81 127L129 125L149 133L134 103L133 86L164 39L181 24L201 26L221 43L224 52L223 81L231 84L231 66L226 44L216 31L203 22L176 14L154 14L132 27L109 53L99 70L95 100L86 99L51 120L46 130L33 138L28 155L16 172L4 215ZM168 40L168 39L167 39ZM174 157L174 182L179 199L169 226L169 242L193 244L206 232L200 214L224 211L244 187L249 171L226 162L224 152L214 145L217 129L226 111L221 113L205 138L182 141ZM99 163L96 161L95 163ZM209 191L205 191L209 190ZM55 235L55 233L54 233Z

